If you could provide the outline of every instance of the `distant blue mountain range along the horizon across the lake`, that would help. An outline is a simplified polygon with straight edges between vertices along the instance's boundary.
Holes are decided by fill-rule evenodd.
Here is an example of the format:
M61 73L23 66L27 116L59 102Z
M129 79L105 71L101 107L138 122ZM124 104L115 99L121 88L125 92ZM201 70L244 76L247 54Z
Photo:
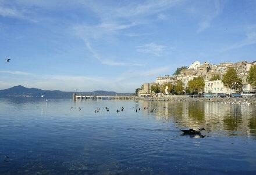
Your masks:
M86 94L88 96L132 96L132 93L116 93L104 90L94 92L81 92L77 94ZM63 92L60 90L42 90L37 88L26 88L24 86L14 86L9 89L0 90L0 97L41 97L45 98L70 98L73 97L73 92Z

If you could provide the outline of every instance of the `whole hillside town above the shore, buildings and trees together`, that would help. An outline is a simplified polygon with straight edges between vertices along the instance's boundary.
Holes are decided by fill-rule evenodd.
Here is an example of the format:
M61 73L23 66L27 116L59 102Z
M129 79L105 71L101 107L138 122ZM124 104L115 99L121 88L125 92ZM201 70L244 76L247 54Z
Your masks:
M155 82L143 83L136 93L147 97L154 94L255 92L255 69L256 61L220 64L195 61L188 67L177 68L173 75L158 76Z

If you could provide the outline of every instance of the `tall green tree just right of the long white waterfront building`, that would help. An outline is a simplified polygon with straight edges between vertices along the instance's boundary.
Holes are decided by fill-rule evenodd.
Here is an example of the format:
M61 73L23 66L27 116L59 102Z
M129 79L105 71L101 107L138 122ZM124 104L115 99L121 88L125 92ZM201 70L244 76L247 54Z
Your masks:
M229 89L236 89L242 84L242 80L237 76L236 70L233 67L229 68L226 74L223 75L222 82Z

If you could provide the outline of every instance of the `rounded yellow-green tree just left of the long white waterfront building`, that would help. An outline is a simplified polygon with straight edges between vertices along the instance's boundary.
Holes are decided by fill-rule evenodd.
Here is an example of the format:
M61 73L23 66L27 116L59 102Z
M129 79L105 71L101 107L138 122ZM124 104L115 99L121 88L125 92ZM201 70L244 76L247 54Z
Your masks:
M202 76L195 77L193 80L191 79L187 83L187 86L190 93L199 93L204 89L204 86L205 86L204 78L202 78Z

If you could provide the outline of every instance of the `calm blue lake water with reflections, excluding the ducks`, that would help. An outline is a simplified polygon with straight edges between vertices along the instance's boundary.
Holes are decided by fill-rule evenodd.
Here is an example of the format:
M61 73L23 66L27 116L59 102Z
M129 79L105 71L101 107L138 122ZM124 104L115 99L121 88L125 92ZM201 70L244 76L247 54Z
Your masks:
M255 151L255 105L0 99L0 174L256 174Z

